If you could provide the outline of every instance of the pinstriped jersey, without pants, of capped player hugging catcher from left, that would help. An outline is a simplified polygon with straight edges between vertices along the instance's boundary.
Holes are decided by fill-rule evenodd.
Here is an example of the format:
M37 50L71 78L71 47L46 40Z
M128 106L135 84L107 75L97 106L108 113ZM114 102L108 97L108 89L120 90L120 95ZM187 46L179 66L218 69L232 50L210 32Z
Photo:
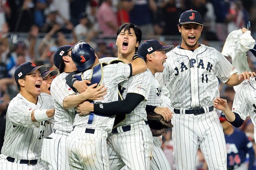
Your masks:
M51 85L51 95L54 101L55 124L54 129L62 132L71 132L75 118L75 109L64 109L63 100L75 92L66 84L67 73L61 73L55 77Z

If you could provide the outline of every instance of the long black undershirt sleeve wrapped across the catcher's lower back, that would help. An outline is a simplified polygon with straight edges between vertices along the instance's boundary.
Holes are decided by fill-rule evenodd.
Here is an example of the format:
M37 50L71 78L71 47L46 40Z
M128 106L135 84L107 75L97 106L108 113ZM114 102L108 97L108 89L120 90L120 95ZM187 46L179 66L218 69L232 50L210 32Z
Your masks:
M122 115L131 113L144 100L144 96L137 93L127 93L122 101L94 104L94 113L100 115ZM102 107L103 106L103 107Z

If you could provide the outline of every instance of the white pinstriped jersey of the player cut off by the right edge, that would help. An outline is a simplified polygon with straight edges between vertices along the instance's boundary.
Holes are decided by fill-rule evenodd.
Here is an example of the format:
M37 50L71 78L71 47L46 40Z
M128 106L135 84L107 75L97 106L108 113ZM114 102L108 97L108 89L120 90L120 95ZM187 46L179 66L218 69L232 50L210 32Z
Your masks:
M232 112L237 113L245 120L250 116L254 125L254 138L256 138L256 81L250 79L240 84L233 102Z

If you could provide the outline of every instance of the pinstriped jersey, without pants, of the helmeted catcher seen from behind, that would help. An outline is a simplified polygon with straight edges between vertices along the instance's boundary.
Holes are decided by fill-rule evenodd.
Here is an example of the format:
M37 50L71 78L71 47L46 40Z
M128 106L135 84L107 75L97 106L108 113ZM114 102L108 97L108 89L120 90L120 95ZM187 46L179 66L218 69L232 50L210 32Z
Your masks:
M89 79L91 77L92 70L87 70L83 73L84 79ZM122 62L117 64L109 64L103 67L103 79L102 83L104 84L107 90L107 94L104 95L104 99L101 101L94 101L95 103L108 103L112 101L118 101L118 83L127 80L130 76L130 66ZM73 126L74 127L87 127L94 128L97 130L104 130L111 132L114 125L114 118L112 117L101 117L94 115L92 124L87 124L89 115L78 116L76 115Z

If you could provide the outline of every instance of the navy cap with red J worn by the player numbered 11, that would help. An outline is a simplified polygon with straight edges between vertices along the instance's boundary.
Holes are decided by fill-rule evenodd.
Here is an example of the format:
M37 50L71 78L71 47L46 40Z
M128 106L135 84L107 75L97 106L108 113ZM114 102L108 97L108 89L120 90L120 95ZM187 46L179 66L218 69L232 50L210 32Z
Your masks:
M180 19L179 19L179 24L181 24L181 25L189 24L189 23L195 23L195 24L204 26L203 22L202 22L201 14L198 11L194 11L192 9L183 12L180 15Z

